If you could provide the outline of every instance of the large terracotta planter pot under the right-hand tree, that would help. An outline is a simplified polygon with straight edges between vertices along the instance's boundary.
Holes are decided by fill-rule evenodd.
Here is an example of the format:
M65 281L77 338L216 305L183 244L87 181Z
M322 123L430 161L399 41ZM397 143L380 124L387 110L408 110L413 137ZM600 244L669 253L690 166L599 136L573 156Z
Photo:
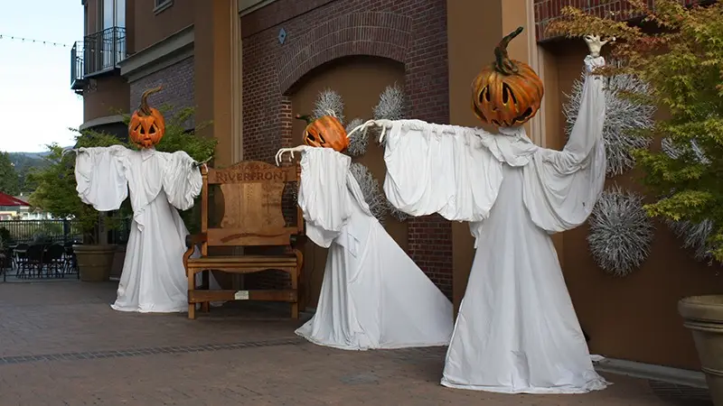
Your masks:
M723 406L723 295L682 299L678 312L693 333L710 398L716 406Z

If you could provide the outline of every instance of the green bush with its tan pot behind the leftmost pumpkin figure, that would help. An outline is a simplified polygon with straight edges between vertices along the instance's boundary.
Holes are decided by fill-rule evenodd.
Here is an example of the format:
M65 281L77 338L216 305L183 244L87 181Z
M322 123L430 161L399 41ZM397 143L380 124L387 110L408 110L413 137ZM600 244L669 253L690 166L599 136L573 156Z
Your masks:
M170 107L164 106L162 110ZM160 152L185 151L197 161L203 161L213 155L217 141L210 137L202 137L195 132L203 125L197 125L195 130L187 130L187 123L193 115L192 108L183 108L177 111L166 122L165 135L161 143L156 145ZM126 116L126 122L130 117ZM123 145L135 148L111 134L93 131L77 131L75 148L104 147L110 145ZM100 230L119 229L123 222L132 217L133 210L126 200L121 208L110 216L101 214L89 205L80 201L76 191L75 180L75 154L63 153L58 144L49 145L50 153L45 157L47 165L28 174L28 180L36 185L30 197L30 203L42 208L56 218L72 218L80 225L83 235L83 244L74 245L73 250L78 260L81 281L108 281L113 264L113 257L117 253L116 245L99 244ZM196 210L193 208L181 213L188 228L197 223Z

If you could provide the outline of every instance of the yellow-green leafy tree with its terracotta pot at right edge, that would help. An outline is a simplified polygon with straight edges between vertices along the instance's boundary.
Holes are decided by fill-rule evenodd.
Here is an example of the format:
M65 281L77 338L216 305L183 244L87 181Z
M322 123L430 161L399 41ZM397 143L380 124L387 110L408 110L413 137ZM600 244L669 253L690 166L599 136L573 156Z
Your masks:
M623 63L601 73L643 79L650 93L627 96L668 113L643 134L662 138L664 148L634 152L653 198L645 209L669 222L708 224L702 248L711 261L723 263L723 3L685 7L656 0L650 9L644 0L627 2L633 14L622 20L643 16L643 24L616 23L568 7L549 30L617 39L611 57ZM692 331L711 397L723 405L723 295L684 298L678 309Z

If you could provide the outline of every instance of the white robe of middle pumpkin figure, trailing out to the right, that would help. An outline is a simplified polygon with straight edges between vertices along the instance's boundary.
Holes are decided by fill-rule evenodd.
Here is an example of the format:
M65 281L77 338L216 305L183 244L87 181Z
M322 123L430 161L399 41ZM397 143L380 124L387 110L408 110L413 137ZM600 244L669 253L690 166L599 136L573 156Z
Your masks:
M452 303L371 215L351 158L329 148L302 153L306 235L329 254L316 313L296 334L346 350L446 346Z

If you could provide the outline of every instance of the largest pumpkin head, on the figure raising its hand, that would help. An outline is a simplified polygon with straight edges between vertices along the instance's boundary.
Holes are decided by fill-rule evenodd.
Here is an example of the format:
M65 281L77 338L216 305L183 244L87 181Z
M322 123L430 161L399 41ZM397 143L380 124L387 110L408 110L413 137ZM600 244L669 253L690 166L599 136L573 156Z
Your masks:
M495 61L472 82L472 109L485 124L523 125L540 110L542 80L529 65L507 55L507 45L520 32L522 27L502 39L494 49Z

